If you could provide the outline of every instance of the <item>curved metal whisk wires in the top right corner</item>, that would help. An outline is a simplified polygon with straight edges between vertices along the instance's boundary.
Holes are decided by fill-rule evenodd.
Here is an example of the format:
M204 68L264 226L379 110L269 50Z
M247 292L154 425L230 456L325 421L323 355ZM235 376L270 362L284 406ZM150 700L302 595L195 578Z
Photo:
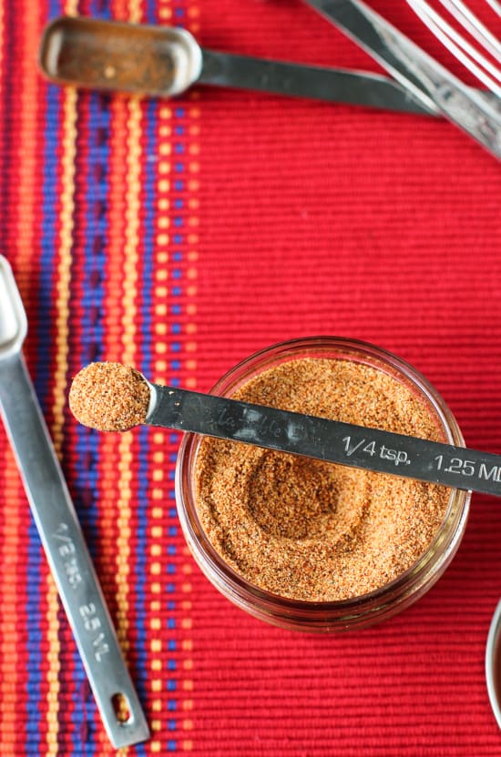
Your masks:
M439 2L465 30L467 36L449 24L427 0L407 0L407 2L447 50L491 92L501 97L501 68L496 66L496 62L501 64L501 43L463 0L439 0ZM501 5L497 0L486 0L486 2L497 15L501 15ZM491 57L486 57L485 53Z

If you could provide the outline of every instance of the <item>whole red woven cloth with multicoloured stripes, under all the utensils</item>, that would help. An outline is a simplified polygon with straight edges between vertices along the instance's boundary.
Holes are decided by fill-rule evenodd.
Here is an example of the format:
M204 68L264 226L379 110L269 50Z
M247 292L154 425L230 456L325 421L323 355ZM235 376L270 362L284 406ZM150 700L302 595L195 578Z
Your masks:
M404 3L384 15L459 73ZM501 174L453 126L196 88L49 85L60 14L183 25L210 48L375 70L300 0L0 2L0 250L25 354L151 727L130 755L497 755L484 677L501 509L474 496L445 576L370 631L273 628L225 600L179 530L179 435L99 435L67 390L95 359L208 390L282 339L363 338L422 370L467 443L501 452ZM501 31L501 28L500 28ZM0 429L0 753L114 753Z

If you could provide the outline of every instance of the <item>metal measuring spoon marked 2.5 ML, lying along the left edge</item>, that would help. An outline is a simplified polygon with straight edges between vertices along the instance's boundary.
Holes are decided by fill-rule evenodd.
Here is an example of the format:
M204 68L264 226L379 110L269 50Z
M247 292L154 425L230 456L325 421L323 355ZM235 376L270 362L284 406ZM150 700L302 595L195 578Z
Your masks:
M12 270L0 255L0 411L97 707L118 749L146 741L148 723L26 369L21 351L26 330Z

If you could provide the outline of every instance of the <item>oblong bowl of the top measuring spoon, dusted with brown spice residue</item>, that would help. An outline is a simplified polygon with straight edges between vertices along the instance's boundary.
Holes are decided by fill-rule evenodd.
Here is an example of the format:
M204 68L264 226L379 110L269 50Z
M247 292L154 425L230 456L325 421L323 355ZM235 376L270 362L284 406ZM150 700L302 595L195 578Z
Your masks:
M60 16L46 26L38 61L56 84L174 96L198 79L202 52L184 29Z

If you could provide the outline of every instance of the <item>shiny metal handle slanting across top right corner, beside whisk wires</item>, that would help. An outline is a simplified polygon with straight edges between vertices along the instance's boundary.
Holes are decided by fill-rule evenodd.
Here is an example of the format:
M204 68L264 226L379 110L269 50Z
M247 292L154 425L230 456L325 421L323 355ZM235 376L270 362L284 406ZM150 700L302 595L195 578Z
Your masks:
M425 106L437 106L456 126L501 158L501 110L496 100L463 84L362 0L305 0L373 56Z

